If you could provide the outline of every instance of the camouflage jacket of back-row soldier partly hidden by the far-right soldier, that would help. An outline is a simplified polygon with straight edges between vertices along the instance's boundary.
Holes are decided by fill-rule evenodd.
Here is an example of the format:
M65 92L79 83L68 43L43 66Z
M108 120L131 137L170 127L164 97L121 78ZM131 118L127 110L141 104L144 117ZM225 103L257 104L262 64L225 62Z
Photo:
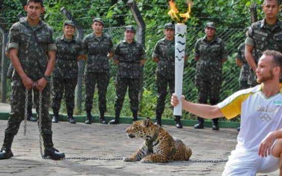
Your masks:
M249 76L250 66L245 58L245 43L240 44L235 57L238 58L243 64L243 66L241 67L239 80L247 81Z

